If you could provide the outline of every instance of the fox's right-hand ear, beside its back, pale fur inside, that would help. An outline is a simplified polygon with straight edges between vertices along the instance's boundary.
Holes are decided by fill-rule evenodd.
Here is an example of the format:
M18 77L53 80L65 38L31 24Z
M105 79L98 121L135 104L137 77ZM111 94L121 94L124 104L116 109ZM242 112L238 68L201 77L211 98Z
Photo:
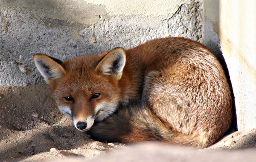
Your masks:
M115 48L107 53L96 67L96 72L103 75L111 75L114 80L122 77L122 71L125 67L125 50Z

